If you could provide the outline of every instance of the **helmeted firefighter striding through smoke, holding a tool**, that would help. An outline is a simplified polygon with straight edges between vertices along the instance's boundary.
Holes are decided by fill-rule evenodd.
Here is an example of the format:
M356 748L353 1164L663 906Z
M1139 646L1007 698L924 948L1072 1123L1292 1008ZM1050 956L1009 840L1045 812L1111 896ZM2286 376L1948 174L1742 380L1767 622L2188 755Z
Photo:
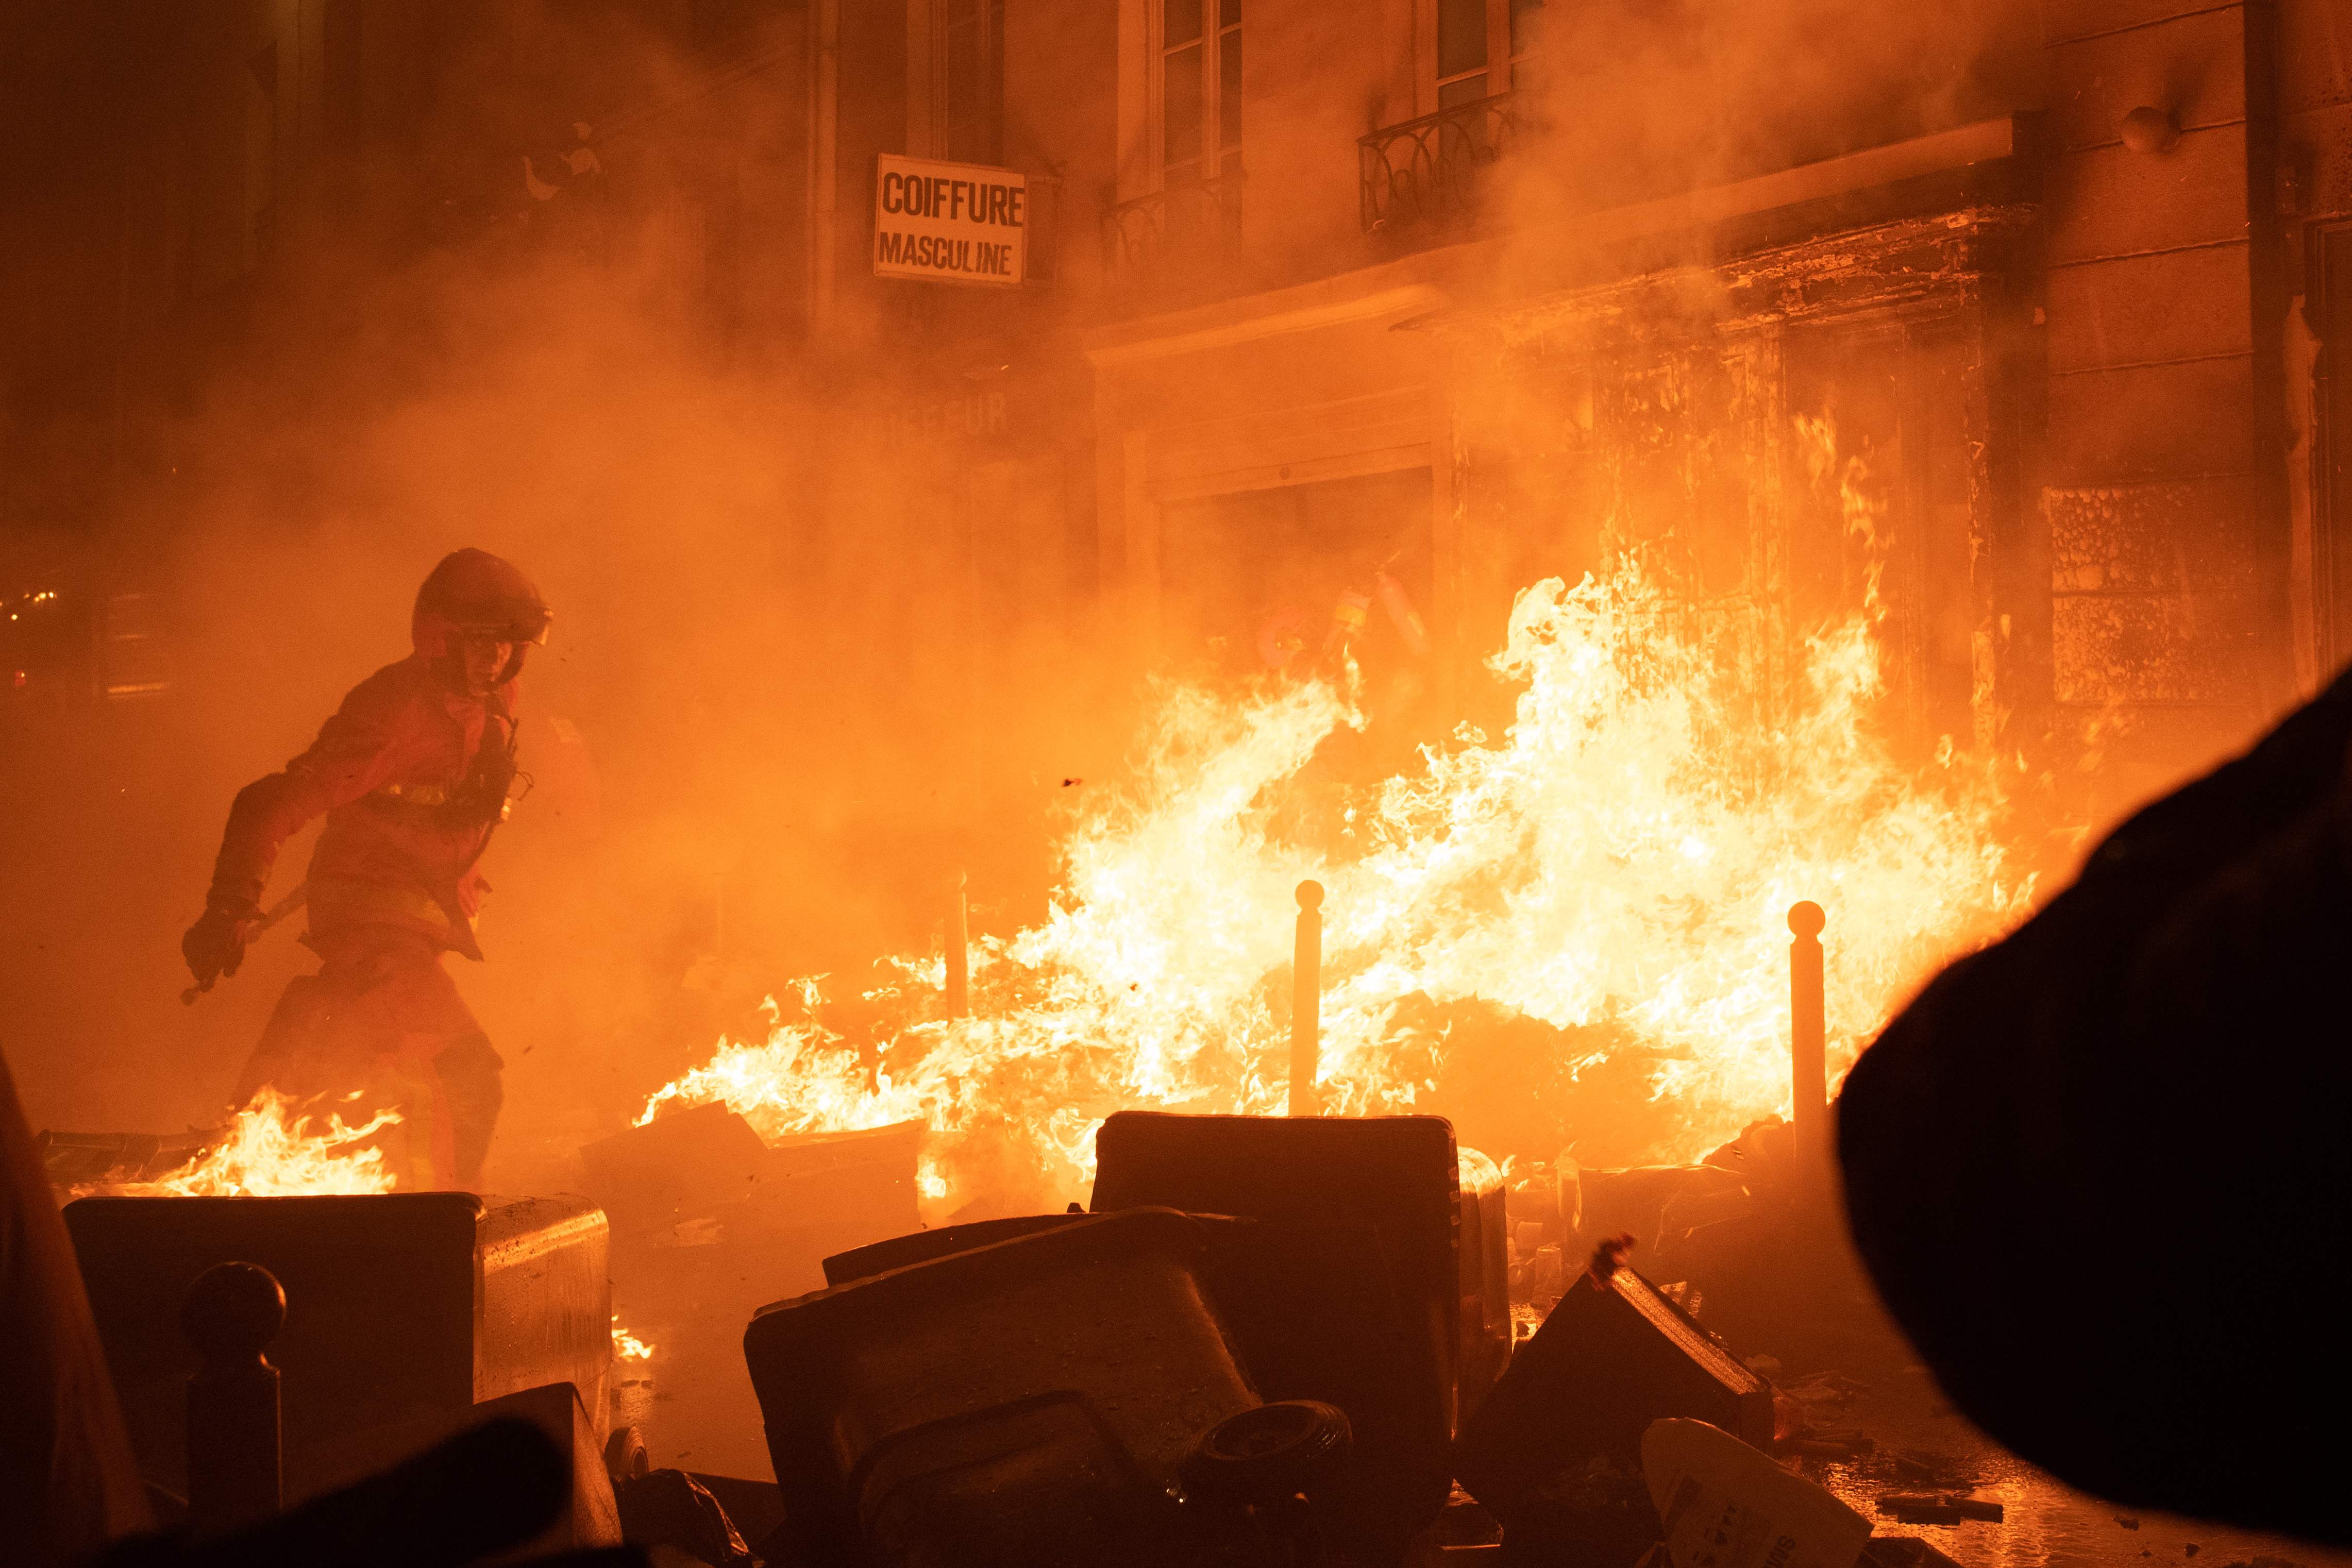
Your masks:
M280 846L310 818L303 943L322 966L278 999L238 1084L397 1112L402 1187L480 1182L503 1060L442 969L480 959L482 851L515 792L515 677L548 637L539 588L485 550L445 557L416 592L414 654L376 670L301 757L238 792L205 914L181 952L200 990L238 973ZM527 780L524 780L527 783Z

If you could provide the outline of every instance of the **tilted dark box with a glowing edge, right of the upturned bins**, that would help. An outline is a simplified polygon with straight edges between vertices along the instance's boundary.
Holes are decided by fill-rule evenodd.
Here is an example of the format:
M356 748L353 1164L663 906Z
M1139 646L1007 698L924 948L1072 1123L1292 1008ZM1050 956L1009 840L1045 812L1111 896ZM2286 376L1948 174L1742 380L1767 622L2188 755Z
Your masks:
M1639 1476L1642 1434L1656 1420L1703 1420L1771 1448L1771 1385L1625 1267L1628 1248L1630 1237L1595 1246L1592 1267L1463 1425L1456 1474L1503 1521L1505 1540L1526 1519L1559 1514L1559 1488L1576 1493L1599 1474L1595 1462ZM1618 1502L1602 1493L1569 1512L1611 1514Z

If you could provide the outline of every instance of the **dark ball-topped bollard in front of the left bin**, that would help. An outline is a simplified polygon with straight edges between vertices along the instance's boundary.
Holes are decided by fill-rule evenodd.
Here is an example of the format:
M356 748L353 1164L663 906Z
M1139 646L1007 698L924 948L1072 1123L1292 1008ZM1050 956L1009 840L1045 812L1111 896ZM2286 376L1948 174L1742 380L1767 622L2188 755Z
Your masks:
M278 1368L263 1354L287 1324L287 1293L256 1262L195 1276L179 1326L202 1366L188 1378L188 1521L214 1533L285 1505Z

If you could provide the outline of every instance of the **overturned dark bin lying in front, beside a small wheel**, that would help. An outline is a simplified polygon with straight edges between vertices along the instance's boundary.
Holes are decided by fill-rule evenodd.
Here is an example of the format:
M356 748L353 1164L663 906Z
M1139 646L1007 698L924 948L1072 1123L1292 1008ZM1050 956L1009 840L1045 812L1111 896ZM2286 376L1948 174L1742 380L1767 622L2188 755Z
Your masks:
M1204 1246L1138 1208L762 1309L743 1359L797 1561L1200 1561L1185 1458L1258 1403Z

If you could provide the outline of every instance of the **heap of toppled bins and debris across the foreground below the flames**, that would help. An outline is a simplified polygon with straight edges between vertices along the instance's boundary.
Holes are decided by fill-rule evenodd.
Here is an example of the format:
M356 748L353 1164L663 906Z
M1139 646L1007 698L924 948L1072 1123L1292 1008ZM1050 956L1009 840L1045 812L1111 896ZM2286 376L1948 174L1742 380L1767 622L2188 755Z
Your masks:
M1872 1450L1835 1378L1776 1389L1693 1312L1762 1300L1733 1269L1802 1222L1785 1128L1693 1168L1505 1175L1437 1117L1124 1112L1091 1208L938 1229L915 1133L771 1147L713 1105L590 1147L593 1204L127 1197L68 1227L165 1497L205 1488L205 1363L160 1349L167 1319L238 1258L294 1302L268 1356L296 1514L520 1422L572 1502L513 1540L673 1566L1947 1561L1797 1472ZM882 1227L741 1331L774 1481L654 1467L616 1415L609 1248L696 1227L717 1255ZM1950 1467L1875 1462L1891 1523L1997 1516Z

